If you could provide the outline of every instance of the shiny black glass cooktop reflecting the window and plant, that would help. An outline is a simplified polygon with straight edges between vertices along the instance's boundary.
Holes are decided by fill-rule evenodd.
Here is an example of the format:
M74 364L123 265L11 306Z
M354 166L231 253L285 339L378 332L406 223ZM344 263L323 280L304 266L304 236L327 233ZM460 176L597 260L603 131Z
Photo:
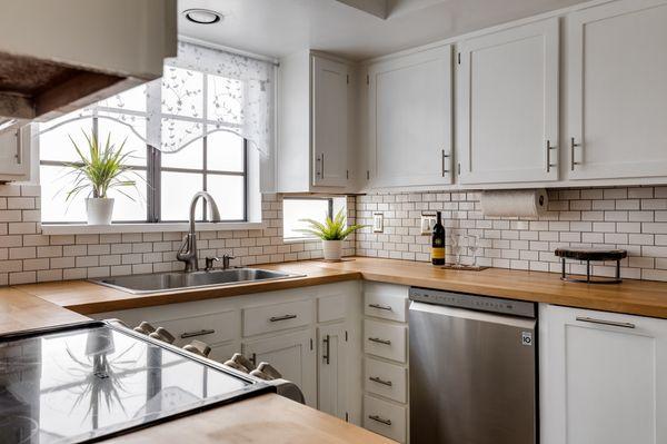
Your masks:
M0 337L0 443L94 442L268 391L104 323Z

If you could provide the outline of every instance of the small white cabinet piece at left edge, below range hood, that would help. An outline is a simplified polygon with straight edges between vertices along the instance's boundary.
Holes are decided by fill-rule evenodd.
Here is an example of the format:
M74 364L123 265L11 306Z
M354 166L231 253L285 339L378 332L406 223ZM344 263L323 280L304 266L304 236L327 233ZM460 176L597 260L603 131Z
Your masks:
M30 179L30 127L0 131L0 182Z

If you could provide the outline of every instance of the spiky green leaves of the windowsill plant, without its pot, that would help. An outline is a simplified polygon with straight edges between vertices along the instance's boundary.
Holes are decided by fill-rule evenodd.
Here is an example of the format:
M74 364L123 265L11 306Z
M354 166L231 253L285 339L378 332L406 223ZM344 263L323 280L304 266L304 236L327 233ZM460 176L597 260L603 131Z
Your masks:
M111 134L107 136L107 141L102 146L96 135L89 136L86 131L82 132L87 142L86 149L80 148L69 136L79 160L68 165L71 168L68 174L74 175L74 181L72 188L67 193L66 200L70 200L86 190L89 190L88 196L104 198L112 188L136 187L136 180L127 178L128 174L136 175L127 165L131 152L123 152L127 139L117 148L111 142ZM118 191L133 200L122 190Z

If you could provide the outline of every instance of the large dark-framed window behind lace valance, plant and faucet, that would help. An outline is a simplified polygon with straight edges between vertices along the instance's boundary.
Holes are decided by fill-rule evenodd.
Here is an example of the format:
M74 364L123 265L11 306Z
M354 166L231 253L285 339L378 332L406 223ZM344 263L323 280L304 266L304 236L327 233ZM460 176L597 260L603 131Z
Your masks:
M39 129L40 184L42 185L43 224L83 224L83 195L67 200L74 179L67 166L77 161L70 137L83 149L83 132L96 135L101 144L111 135L113 144L122 144L131 152L128 179L136 188L123 187L109 193L115 198L113 223L186 221L190 200L199 190L209 191L223 221L248 220L248 141L241 136L218 129L208 109L216 109L209 88L221 78L201 72L166 67L166 75L181 78L180 90L162 83L161 114L153 124L148 114L155 85L140 86L98 106L42 124ZM195 83L195 85L193 85ZM159 83L158 83L159 88ZM178 102L178 107L171 107ZM173 110L173 114L170 111ZM215 111L210 111L211 114ZM207 131L203 129L207 128ZM146 144L148 131L161 131L162 138L189 137L176 152L160 151ZM175 136L176 135L176 136ZM185 136L183 136L185 135ZM198 219L207 220L202 205Z

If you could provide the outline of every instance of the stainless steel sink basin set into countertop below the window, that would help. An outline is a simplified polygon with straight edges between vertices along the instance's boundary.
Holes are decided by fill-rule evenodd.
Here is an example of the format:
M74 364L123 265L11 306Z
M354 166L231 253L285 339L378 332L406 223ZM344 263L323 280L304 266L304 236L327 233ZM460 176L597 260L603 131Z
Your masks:
M259 268L230 268L210 272L172 272L146 275L127 275L90 279L107 287L133 294L175 292L188 288L218 287L232 284L265 282L299 277L288 273Z

